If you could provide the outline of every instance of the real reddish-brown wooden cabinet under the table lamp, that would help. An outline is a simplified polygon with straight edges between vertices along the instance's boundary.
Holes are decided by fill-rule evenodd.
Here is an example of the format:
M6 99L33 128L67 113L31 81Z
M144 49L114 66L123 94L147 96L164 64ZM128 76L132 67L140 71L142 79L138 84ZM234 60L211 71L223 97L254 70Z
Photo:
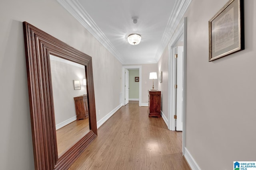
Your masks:
M161 117L161 91L148 90L148 117Z

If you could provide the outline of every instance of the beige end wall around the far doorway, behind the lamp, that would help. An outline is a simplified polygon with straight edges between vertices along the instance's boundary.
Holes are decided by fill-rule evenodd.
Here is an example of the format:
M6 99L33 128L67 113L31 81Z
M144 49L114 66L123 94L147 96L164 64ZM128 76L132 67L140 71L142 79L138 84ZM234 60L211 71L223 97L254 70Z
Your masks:
M148 90L152 89L153 82L149 79L150 72L157 72L157 64L124 64L123 66L142 66L142 104L148 104ZM158 89L159 79L154 80L154 89Z

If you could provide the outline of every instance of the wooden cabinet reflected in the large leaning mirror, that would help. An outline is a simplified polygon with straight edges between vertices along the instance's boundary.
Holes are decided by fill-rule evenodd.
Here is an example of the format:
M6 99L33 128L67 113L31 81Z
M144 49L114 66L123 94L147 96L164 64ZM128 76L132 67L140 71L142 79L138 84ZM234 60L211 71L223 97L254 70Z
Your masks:
M87 94L74 97L76 107L76 120L87 119L89 117Z

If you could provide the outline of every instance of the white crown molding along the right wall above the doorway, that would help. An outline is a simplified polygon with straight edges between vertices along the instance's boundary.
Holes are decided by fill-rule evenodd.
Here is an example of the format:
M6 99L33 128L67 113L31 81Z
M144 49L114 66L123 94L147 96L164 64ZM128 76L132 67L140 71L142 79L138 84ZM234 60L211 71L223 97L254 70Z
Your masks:
M176 28L180 25L180 21L182 20L185 12L187 11L191 1L192 0L176 0L174 8L172 10L172 14L170 15L170 18L164 30L161 45L156 52L155 59L157 62L159 61L164 49L170 42Z

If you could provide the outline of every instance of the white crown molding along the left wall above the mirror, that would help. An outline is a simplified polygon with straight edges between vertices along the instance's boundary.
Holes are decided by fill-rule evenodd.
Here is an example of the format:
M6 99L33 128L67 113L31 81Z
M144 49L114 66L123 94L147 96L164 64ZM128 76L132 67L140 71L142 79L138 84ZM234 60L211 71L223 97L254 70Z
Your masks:
M120 53L77 0L56 1L74 18L76 18L76 20L78 20L108 51L110 51L110 53L112 53L120 63L124 64L124 61L120 57Z

